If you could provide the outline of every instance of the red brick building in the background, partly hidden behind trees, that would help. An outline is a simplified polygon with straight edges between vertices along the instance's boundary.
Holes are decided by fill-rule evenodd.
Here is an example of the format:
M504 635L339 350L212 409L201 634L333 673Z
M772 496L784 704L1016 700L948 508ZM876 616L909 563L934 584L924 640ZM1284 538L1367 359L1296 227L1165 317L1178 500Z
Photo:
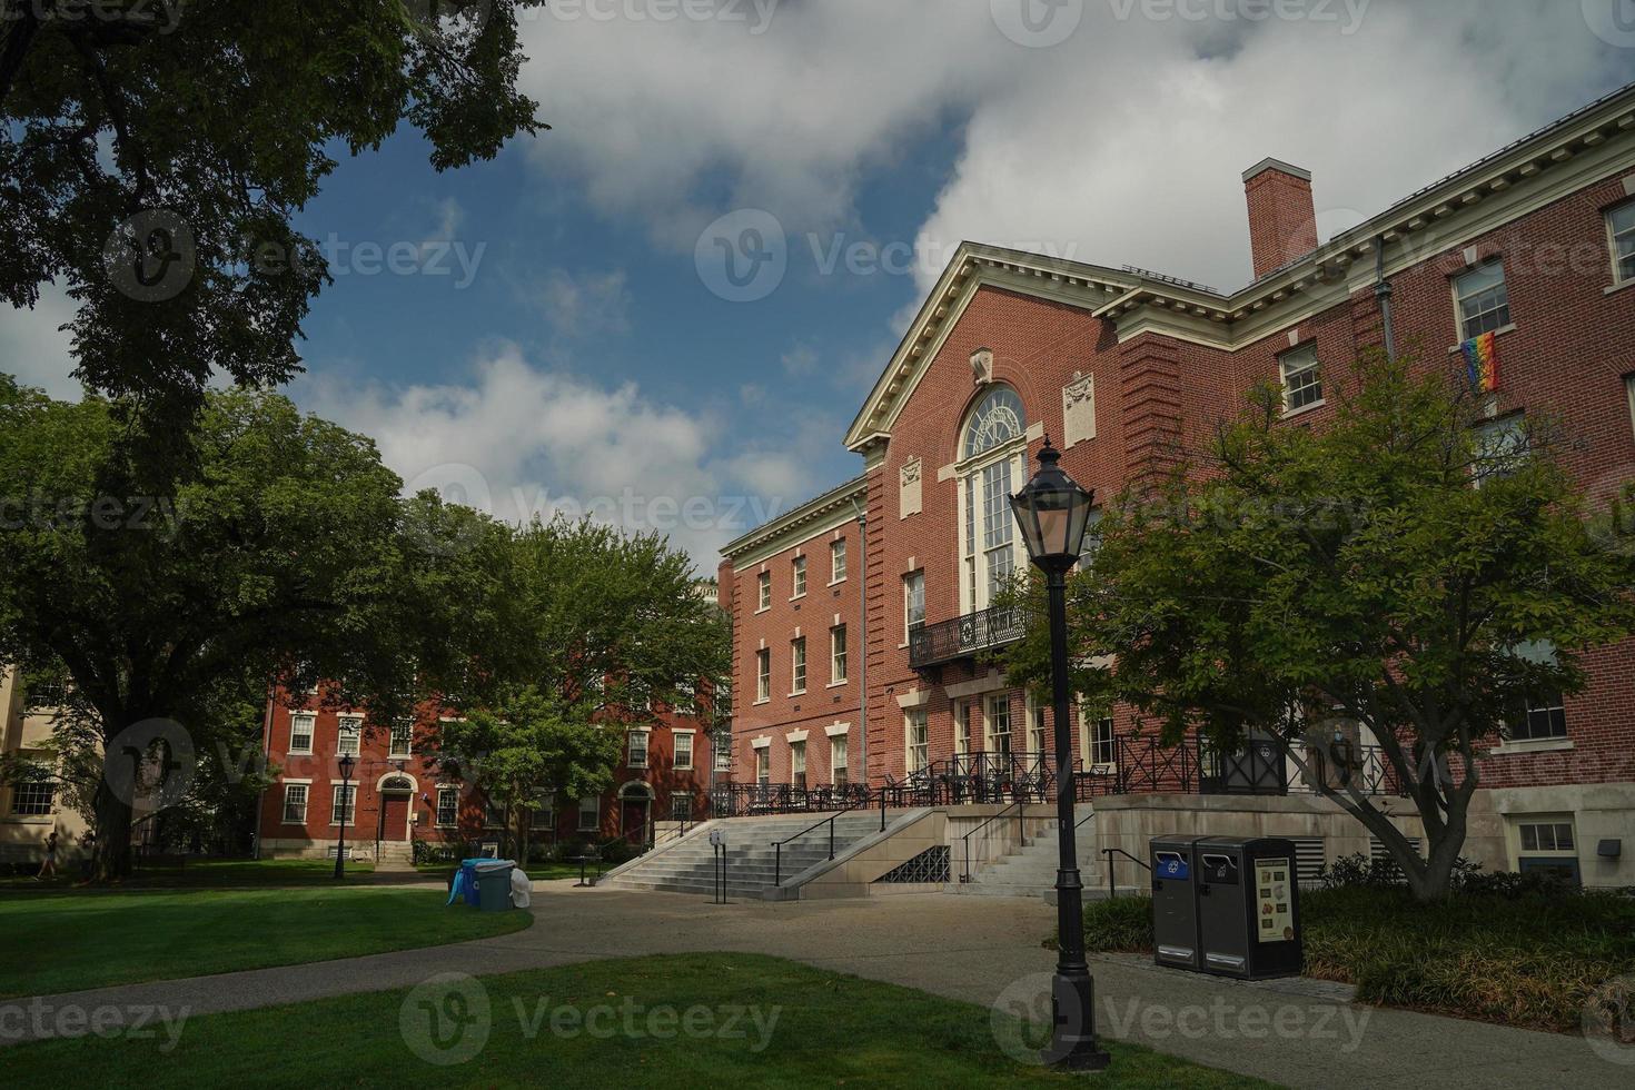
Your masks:
M502 819L482 791L441 775L428 757L438 711L428 706L412 722L384 726L363 711L325 709L316 696L270 701L263 744L280 775L262 796L258 855L334 858L342 820L352 858L410 860L414 842L456 851L497 843ZM610 722L607 729L625 732L615 786L602 796L551 799L535 812L533 847L639 842L701 817L713 773L706 722L698 709L669 708ZM343 753L355 758L345 796Z

